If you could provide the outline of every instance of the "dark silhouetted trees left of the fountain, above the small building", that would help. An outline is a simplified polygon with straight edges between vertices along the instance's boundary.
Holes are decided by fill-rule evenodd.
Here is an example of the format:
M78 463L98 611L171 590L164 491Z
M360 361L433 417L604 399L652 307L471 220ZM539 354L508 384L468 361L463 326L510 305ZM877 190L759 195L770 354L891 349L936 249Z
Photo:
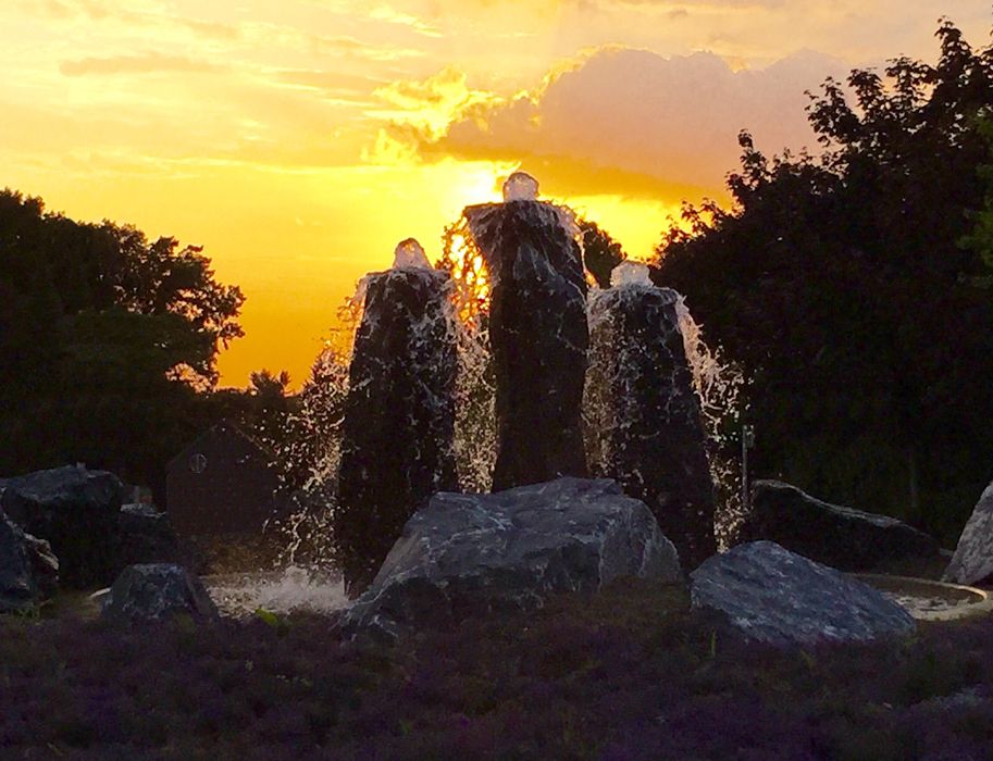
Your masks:
M199 248L0 191L0 476L85 462L161 502L190 439L285 406L287 378L266 373L248 391L215 390L243 302Z

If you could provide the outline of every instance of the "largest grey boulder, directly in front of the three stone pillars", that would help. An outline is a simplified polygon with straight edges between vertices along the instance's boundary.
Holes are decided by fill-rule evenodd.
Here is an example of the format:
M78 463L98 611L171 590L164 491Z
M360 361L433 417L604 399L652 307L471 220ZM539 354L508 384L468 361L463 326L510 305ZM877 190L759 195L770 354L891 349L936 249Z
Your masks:
M559 478L493 495L438 494L408 521L344 629L393 638L619 576L682 579L648 508L612 481Z

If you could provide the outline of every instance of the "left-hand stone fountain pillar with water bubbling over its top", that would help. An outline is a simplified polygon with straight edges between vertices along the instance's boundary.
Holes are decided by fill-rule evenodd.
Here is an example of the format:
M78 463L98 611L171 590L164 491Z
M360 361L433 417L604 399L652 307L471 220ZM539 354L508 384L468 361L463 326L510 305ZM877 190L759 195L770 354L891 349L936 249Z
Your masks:
M346 591L369 585L405 522L457 487L451 280L415 240L367 276L345 403L335 537Z

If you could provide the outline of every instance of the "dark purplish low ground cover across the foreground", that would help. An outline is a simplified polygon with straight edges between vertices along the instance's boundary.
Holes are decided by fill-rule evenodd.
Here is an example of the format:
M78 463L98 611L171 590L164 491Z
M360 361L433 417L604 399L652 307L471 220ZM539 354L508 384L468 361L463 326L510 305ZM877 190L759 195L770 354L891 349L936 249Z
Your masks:
M342 643L316 616L0 621L4 759L879 761L991 747L993 619L781 652L727 641L680 588L630 581L395 647Z

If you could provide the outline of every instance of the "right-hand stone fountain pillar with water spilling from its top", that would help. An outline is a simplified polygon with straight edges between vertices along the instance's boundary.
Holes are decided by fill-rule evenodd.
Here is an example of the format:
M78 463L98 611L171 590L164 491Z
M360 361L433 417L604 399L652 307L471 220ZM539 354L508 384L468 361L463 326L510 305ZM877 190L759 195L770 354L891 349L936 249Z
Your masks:
M679 301L644 264L615 269L591 299L586 407L591 467L648 504L692 569L717 551L715 490Z

